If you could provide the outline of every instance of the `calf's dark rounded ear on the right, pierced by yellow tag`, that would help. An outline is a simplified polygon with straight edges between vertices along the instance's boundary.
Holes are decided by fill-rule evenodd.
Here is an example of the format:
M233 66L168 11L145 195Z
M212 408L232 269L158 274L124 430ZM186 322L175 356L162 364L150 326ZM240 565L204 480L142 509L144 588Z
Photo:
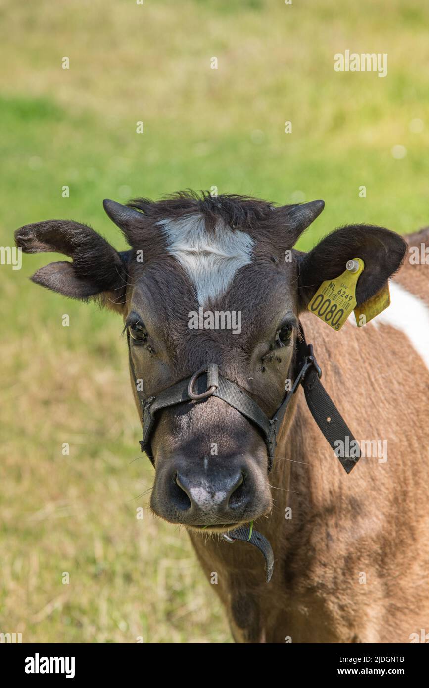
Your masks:
M309 253L296 252L298 301L304 310L325 279L346 270L346 263L362 258L364 271L356 286L358 305L374 296L399 268L406 253L404 239L384 227L350 225L334 230Z

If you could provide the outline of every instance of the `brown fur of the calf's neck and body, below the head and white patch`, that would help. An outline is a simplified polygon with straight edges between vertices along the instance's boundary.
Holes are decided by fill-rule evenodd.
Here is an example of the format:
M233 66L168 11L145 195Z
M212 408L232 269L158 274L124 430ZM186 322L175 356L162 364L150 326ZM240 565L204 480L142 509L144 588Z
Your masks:
M192 543L206 575L219 572L236 641L408 643L429 626L429 374L391 327L336 333L310 314L302 321L331 398L356 438L388 438L388 461L361 459L346 475L300 391L270 477L272 513L254 524L274 547L272 582L243 543L191 533ZM247 622L234 611L243 596L254 606Z

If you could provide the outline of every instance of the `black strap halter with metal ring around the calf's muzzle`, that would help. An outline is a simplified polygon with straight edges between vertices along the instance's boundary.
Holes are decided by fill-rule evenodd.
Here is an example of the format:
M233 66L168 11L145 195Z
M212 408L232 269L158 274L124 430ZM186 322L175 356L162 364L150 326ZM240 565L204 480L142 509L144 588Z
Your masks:
M190 378L180 380L180 382L175 383L175 385L171 387L166 387L166 389L159 392L156 397L151 396L145 398L137 385L137 376L131 356L128 333L127 338L131 374L142 407L143 438L140 440L140 447L142 451L146 451L152 463L154 462L151 451L151 436L155 429L157 418L159 418L159 413L163 409L176 406L177 404L195 404L210 396L214 396L232 406L232 408L239 411L245 418L253 422L256 427L259 428L267 446L268 472L270 472L276 451L276 434L278 428L281 427L289 402L299 385L303 385L305 399L307 400L307 405L311 414L320 427L320 430L325 435L325 438L327 438L332 449L335 449L334 443L338 440L344 442L343 446L346 446L347 437L350 442L354 440L349 427L347 427L336 405L320 382L322 370L314 357L313 346L307 344L305 341L302 325L300 325L293 364L294 383L292 389L285 394L285 398L272 418L268 418L256 401L243 391L241 387L221 376L216 363L209 363L197 370ZM353 466L355 466L360 458L360 451L358 449L356 453L357 458L338 457L347 473L350 473L351 469L353 469Z

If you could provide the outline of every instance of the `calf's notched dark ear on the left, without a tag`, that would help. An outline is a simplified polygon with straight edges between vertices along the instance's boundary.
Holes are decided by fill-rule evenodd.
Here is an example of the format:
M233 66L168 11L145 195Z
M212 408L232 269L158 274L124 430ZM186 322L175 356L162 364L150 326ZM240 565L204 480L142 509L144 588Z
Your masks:
M54 252L72 258L34 272L31 279L36 284L72 299L102 297L112 308L124 300L128 253L118 253L91 227L51 219L17 229L15 241L24 253Z

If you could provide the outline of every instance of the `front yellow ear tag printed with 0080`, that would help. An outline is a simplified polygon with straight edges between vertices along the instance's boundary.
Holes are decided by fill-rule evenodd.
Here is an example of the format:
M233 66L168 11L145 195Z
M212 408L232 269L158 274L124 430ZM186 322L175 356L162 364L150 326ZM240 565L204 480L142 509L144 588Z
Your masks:
M322 282L307 306L308 310L333 330L341 330L355 308L356 284L364 267L362 258L347 261L342 275Z

